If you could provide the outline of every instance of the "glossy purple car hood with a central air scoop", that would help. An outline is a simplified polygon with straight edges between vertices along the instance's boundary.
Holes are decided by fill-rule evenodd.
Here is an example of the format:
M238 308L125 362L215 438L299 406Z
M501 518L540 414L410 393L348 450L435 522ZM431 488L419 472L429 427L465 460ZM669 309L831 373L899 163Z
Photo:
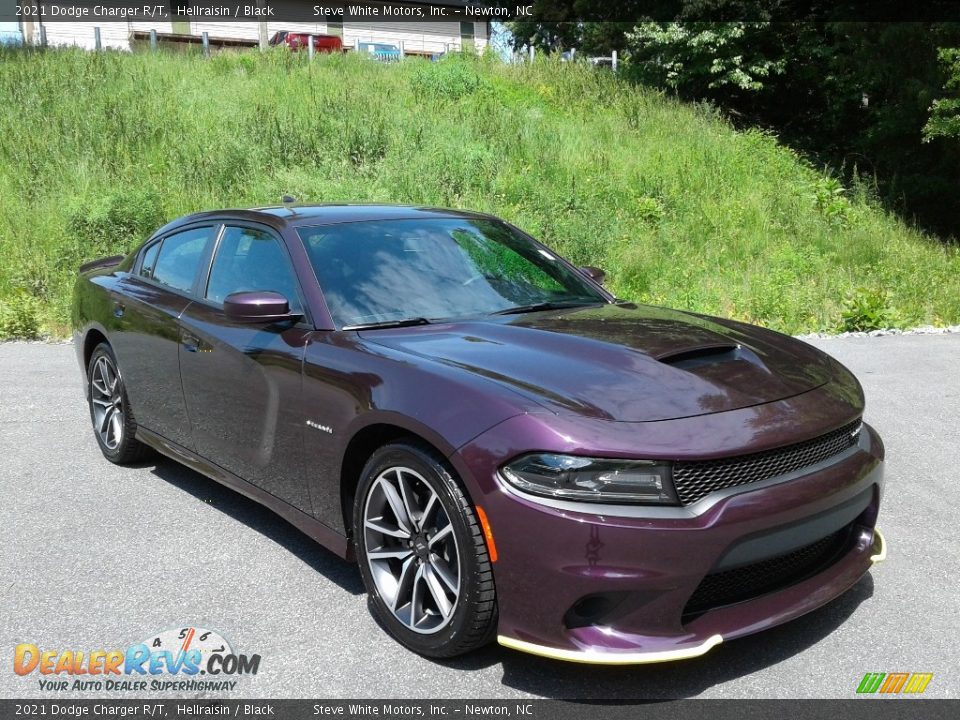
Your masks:
M843 372L810 345L763 328L632 304L361 335L500 383L553 412L622 422L782 400Z

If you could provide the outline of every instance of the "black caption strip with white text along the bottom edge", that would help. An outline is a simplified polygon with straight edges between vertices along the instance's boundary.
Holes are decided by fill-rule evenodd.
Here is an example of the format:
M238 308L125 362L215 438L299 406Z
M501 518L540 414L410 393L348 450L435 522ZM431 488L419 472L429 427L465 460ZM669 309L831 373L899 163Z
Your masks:
M559 700L0 700L0 718L377 718L437 720L499 717L514 720L947 720L960 701L893 697L858 700L682 700L576 703Z

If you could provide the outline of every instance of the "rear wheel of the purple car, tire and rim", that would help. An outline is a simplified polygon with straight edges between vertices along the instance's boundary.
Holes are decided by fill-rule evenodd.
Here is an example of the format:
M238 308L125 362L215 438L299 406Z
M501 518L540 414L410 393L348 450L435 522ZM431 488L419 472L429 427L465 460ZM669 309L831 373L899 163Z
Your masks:
M87 404L93 435L107 460L124 465L149 454L149 448L136 439L137 421L127 400L117 359L106 343L93 349L87 365Z

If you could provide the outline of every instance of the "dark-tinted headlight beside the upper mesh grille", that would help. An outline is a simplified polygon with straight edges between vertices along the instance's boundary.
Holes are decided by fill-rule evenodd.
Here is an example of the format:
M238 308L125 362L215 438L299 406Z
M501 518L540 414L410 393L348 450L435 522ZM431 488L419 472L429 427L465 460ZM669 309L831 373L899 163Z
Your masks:
M504 478L533 495L607 503L679 505L670 466L651 460L609 460L537 453L505 465Z

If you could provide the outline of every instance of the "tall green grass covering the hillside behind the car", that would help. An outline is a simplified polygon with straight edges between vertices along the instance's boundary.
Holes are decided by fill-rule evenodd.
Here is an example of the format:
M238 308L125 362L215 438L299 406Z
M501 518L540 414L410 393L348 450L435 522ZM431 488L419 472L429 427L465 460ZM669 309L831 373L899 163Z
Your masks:
M65 334L79 263L224 206L483 210L622 297L787 332L960 322L960 252L609 72L492 58L0 52L0 337Z

